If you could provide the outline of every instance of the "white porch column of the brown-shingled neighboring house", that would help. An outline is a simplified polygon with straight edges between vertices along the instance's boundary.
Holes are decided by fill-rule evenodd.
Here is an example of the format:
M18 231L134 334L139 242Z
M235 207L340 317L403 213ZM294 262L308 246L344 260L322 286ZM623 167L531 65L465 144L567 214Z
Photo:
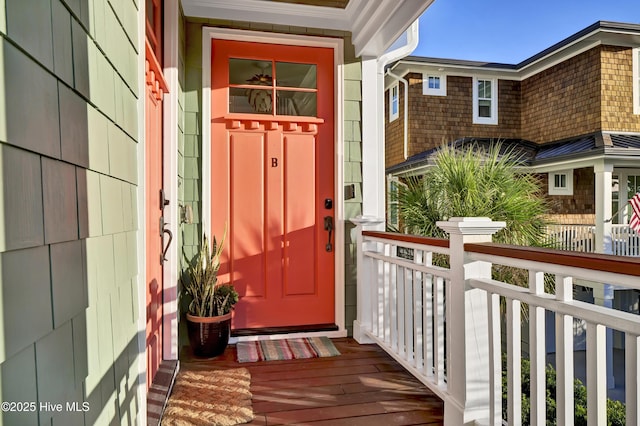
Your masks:
M611 216L613 165L604 161L593 167L596 184L596 253L611 254ZM593 299L596 305L613 308L613 287L609 284L597 284L593 289ZM607 387L615 387L613 376L613 330L607 329Z

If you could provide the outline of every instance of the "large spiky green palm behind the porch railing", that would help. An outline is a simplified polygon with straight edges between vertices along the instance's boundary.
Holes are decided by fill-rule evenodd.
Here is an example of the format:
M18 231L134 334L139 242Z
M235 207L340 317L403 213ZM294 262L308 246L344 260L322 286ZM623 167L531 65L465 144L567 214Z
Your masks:
M494 241L539 246L547 211L535 175L519 166L522 156L495 143L489 149L444 146L422 178L398 190L399 215L408 232L446 237L436 226L451 217L489 217L507 226Z

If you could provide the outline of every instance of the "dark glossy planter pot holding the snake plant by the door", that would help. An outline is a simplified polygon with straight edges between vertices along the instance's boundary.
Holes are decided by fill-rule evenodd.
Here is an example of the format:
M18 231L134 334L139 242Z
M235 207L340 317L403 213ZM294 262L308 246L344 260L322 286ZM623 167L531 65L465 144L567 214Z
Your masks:
M205 358L222 355L231 335L231 313L219 317L187 314L187 332L194 355Z

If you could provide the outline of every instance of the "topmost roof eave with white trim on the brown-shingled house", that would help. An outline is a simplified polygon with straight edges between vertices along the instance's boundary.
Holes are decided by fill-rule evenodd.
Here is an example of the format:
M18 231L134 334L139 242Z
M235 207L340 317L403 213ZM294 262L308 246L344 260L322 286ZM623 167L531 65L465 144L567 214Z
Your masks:
M640 47L640 25L596 22L520 62L502 64L410 56L393 65L394 73L433 72L463 77L484 76L522 81L599 45Z

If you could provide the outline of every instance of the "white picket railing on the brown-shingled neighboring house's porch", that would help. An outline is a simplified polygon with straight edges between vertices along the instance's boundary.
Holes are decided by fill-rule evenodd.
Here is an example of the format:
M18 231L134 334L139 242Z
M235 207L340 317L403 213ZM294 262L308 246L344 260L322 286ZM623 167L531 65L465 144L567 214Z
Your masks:
M546 227L546 243L559 250L596 253L595 225L551 224ZM640 257L640 235L629 225L611 225L611 254Z

